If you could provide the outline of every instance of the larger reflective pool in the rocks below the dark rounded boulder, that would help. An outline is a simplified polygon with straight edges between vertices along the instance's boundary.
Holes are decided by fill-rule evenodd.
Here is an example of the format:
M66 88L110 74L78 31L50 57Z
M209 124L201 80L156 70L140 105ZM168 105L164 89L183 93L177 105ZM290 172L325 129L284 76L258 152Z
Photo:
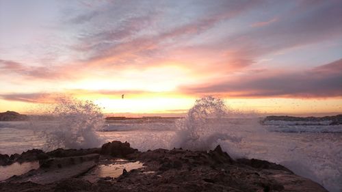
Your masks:
M101 177L118 178L122 174L122 170L126 169L127 172L131 169L139 169L144 167L139 161L131 162L124 159L116 159L104 165L97 165L94 169L90 170L87 174L82 176L84 180L89 182L96 182Z

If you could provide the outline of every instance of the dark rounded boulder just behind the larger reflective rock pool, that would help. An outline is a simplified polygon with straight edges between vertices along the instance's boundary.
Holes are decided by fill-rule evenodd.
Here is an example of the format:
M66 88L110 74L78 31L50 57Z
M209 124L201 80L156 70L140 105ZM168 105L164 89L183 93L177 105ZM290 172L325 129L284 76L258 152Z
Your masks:
M127 141L124 143L121 141L111 141L103 144L101 147L101 154L109 154L116 157L125 157L128 154L133 154L134 152L137 152L137 150L131 148Z

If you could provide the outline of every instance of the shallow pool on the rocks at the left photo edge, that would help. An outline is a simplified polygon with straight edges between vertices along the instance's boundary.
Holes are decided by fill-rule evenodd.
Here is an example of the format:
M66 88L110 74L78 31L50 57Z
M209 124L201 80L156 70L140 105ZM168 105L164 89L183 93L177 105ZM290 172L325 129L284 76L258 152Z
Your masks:
M38 169L39 162L13 163L12 165L0 166L0 180L8 179L14 175L20 176L31 169Z

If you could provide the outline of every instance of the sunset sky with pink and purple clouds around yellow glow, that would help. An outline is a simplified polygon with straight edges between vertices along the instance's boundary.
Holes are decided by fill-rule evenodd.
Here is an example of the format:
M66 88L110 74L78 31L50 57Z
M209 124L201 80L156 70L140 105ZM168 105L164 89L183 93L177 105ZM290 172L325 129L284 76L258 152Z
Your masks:
M184 113L209 95L342 113L342 1L0 0L0 111Z

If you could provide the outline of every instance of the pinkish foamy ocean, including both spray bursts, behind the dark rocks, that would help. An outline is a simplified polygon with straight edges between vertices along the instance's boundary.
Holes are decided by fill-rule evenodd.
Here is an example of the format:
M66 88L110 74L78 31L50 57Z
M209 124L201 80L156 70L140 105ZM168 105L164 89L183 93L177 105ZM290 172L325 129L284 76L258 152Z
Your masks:
M216 98L202 98L179 120L105 122L91 103L65 101L55 121L0 122L0 153L32 148L90 148L113 140L138 150L210 150L220 144L233 158L285 165L328 191L342 191L342 126L270 122L236 113ZM66 107L67 106L67 107Z

